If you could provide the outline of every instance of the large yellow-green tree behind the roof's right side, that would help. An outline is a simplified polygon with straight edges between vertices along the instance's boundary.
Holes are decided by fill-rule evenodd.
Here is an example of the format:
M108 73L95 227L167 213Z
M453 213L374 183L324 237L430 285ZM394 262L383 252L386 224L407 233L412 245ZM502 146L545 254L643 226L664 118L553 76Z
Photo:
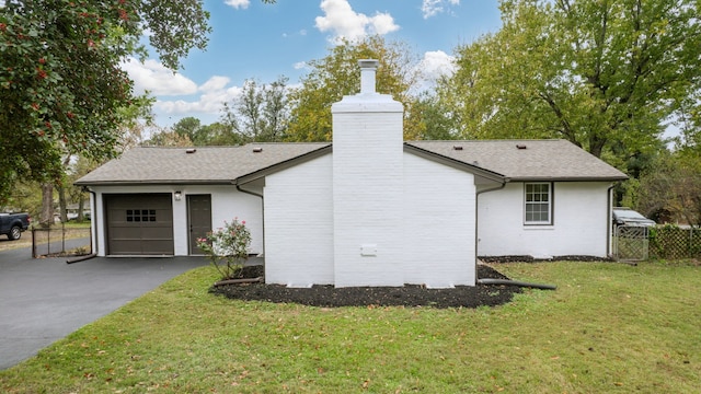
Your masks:
M657 148L698 91L694 0L503 0L503 27L457 50L440 97L469 138L564 138L596 157ZM607 158L609 159L609 158Z

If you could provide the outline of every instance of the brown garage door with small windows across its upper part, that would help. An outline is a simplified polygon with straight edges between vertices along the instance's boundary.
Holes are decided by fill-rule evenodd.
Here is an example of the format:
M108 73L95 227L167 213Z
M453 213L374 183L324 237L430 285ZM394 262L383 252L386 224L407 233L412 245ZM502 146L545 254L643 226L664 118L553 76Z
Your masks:
M103 198L107 254L174 254L171 194L106 194Z

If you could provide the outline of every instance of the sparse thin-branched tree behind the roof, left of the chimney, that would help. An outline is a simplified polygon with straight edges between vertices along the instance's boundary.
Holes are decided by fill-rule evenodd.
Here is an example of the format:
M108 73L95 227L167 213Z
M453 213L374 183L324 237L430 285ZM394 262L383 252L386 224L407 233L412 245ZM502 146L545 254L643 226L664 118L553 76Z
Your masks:
M241 95L225 103L222 124L237 136L235 144L250 141L279 141L289 119L286 77L269 84L255 80L243 83Z

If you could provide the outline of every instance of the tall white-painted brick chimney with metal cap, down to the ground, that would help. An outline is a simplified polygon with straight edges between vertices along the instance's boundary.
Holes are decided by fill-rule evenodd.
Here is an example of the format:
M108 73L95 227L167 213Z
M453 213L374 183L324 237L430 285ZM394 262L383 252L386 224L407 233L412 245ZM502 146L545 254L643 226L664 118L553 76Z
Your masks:
M359 60L360 93L332 105L334 281L402 286L403 113Z

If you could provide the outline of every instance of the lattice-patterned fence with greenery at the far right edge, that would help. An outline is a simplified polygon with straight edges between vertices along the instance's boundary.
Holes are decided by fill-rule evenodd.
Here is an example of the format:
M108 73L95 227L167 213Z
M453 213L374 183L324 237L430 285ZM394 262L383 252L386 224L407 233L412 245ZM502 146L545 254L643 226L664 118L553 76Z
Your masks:
M701 258L701 230L658 225L650 229L650 256L653 258Z

